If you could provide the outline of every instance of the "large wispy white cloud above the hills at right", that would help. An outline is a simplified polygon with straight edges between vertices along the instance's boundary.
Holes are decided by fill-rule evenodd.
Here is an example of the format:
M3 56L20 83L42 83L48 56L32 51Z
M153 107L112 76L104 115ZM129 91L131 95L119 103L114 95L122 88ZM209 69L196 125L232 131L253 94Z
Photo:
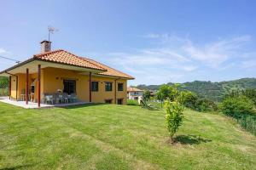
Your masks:
M254 54L244 51L243 47L252 39L247 35L218 38L203 44L194 42L189 38L189 34L177 37L168 33L150 33L143 38L155 42L155 47L104 54L105 58L108 56L108 60L102 62L130 73L137 78L135 83L159 84L180 82L186 75L206 68L216 71L229 70L237 66L237 59L241 61L247 57L248 60ZM253 64L243 61L242 65L245 68Z

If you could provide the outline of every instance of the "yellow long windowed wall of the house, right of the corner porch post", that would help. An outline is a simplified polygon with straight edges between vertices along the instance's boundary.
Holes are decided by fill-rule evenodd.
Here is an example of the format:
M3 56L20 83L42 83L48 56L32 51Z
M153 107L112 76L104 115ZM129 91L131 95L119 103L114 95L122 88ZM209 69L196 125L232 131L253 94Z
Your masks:
M64 79L72 79L76 80L76 88L78 98L83 101L89 101L90 93L89 93L89 76L81 75L77 71L68 71L63 69L55 69L55 68L45 68L44 69L44 88L42 93L55 93L58 89L63 91L63 80ZM91 100L95 103L104 103L105 99L113 99L114 103L114 80L115 78L110 77L91 77L91 81L99 82L99 91L91 92ZM112 92L105 91L105 82L113 82L113 90ZM118 82L124 83L124 91L119 92L118 89L117 99L123 99L123 103L126 104L126 80L117 80ZM43 84L43 83L42 83Z

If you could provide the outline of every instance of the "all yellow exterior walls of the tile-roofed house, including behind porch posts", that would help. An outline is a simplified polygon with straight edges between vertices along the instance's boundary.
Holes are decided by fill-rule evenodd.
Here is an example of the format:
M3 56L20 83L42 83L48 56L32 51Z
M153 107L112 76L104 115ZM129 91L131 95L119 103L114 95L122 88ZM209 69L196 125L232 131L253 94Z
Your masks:
M21 90L26 89L26 74L17 74L19 77L18 83L18 96L20 97ZM36 79L38 74L30 74L29 75L29 90L31 91L31 83L32 79ZM15 77L13 77L15 78ZM43 99L43 94L53 94L56 93L58 89L63 91L63 80L71 79L76 80L76 93L78 98L89 102L90 100L90 92L89 92L89 75L79 74L78 71L68 71L64 69L56 69L56 68L44 68L41 71L41 98ZM114 101L114 90L115 90L115 82L116 86L119 82L124 83L124 91L119 92L116 87L116 99L123 99L123 104L126 104L126 93L127 93L127 81L121 80L112 77L91 77L91 81L99 82L99 91L91 92L91 101L95 103L105 103L105 99L113 99ZM12 81L13 82L13 81ZM111 92L105 91L105 82L113 82L113 87ZM15 83L12 83L12 97L15 98ZM35 101L38 99L38 81L35 83Z

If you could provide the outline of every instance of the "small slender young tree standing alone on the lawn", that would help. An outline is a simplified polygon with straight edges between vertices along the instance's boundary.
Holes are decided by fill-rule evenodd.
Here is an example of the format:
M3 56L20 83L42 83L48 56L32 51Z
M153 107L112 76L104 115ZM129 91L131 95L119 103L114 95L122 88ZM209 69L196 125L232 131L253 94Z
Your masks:
M173 135L177 133L178 127L183 122L183 106L177 102L171 102L169 99L165 102L166 125L173 143Z

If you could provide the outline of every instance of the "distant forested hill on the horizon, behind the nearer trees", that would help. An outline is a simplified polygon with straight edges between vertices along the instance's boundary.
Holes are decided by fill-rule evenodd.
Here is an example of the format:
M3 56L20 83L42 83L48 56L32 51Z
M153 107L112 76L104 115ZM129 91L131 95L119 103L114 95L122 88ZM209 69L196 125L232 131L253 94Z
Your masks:
M172 85L173 83L168 82L167 84ZM138 85L137 88L157 90L160 88L160 85ZM181 89L190 90L201 97L212 99L214 101L220 101L224 94L229 91L242 88L256 88L256 78L241 78L226 82L194 81L181 84Z

